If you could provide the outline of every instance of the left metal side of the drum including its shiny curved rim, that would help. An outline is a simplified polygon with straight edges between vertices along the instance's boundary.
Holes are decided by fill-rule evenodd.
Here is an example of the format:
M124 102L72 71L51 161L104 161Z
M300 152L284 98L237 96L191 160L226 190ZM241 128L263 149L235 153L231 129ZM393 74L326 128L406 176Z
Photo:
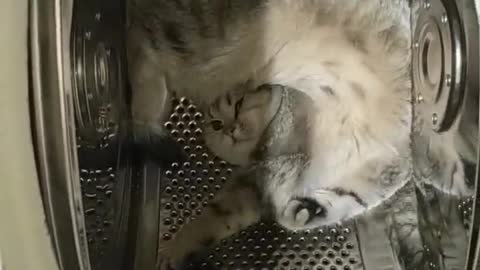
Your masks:
M122 269L131 187L123 1L31 1L31 107L61 269Z

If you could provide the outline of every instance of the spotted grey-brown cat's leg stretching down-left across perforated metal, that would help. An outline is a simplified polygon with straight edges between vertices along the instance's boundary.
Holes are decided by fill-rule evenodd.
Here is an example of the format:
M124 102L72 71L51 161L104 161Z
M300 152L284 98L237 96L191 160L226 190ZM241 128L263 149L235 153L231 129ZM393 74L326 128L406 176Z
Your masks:
M260 201L256 190L249 183L237 180L240 179L225 187L174 239L160 240L159 270L178 269L195 253L259 221Z

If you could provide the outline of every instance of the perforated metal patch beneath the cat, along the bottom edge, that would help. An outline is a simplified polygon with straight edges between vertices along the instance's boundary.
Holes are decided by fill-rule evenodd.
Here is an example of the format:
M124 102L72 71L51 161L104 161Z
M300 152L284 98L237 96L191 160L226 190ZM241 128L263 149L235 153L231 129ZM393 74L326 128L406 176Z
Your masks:
M200 269L363 269L352 224L302 232L261 222L223 240ZM190 266L190 267L193 267Z

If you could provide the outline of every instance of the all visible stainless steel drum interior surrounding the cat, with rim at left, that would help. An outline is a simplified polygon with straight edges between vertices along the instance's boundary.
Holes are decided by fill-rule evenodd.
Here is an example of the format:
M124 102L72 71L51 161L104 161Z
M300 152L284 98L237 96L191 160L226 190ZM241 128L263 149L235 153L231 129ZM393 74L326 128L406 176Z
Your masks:
M153 270L159 242L201 215L232 168L202 144L202 112L186 97L172 99L165 128L187 162L158 167L129 144L123 1L33 3L32 128L61 269ZM441 172L429 140L467 136L457 151L478 190L479 1L411 5L415 177ZM288 232L262 221L190 268L476 269L476 198L415 183L341 225Z

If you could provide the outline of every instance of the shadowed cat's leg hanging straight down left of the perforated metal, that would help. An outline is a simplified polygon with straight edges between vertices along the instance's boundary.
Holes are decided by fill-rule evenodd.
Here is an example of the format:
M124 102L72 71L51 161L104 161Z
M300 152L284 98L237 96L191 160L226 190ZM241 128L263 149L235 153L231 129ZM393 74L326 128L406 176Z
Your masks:
M163 128L163 123L171 113L171 90L159 66L161 62L152 55L154 52L142 42L142 38L143 31L130 27L127 58L132 90L131 127L134 144L160 164L169 164L183 159L180 147Z

